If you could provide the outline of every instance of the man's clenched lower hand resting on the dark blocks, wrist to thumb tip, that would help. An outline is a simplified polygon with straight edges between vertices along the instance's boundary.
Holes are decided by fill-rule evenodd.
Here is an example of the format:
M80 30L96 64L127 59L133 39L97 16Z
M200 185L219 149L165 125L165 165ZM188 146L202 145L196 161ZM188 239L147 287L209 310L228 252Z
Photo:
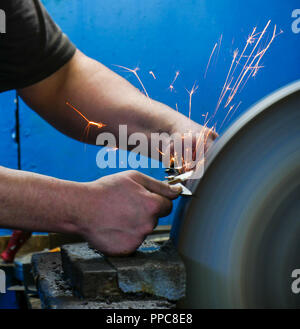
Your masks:
M137 171L106 176L84 186L77 207L79 232L108 255L135 251L158 218L171 212L171 200L181 192Z

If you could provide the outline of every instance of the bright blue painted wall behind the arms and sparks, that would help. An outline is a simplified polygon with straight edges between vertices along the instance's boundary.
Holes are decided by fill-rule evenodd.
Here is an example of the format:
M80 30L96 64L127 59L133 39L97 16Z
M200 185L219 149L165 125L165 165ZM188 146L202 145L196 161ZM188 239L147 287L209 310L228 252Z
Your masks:
M291 30L293 9L299 1L289 0L43 0L43 3L70 39L87 55L101 61L138 86L131 74L113 64L140 67L150 96L188 113L188 95L195 81L199 89L193 99L192 119L213 111L232 60L254 26L261 31L269 19L284 31L263 59L264 68L249 81L239 99L235 117L277 88L300 78L300 34ZM271 29L270 29L271 33ZM203 74L211 50L223 34L218 61L207 78ZM270 35L269 35L270 36ZM154 80L149 71L157 75ZM181 72L168 86L175 71ZM84 82L83 82L84 83ZM17 167L14 93L0 95L0 163ZM86 149L55 131L20 102L21 168L55 177L87 181L117 170L96 166L96 147ZM225 112L216 120L222 122ZM234 120L234 118L232 118ZM226 125L224 126L224 128ZM163 178L162 170L144 170ZM172 215L161 223L170 223Z

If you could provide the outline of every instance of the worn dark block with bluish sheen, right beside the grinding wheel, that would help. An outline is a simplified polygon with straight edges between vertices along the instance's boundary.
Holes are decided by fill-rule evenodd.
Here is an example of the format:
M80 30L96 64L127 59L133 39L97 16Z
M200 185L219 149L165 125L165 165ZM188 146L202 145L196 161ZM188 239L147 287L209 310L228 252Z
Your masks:
M151 250L151 248L150 248ZM160 249L140 248L128 257L109 257L124 293L146 293L177 301L185 296L185 267L170 241Z

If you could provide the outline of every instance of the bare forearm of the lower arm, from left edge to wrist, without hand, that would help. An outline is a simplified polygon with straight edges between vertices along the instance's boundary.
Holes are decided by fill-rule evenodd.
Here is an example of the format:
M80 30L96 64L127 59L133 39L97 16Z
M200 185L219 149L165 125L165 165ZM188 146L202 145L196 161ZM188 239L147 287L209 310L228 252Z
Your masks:
M69 204L79 183L4 167L0 182L0 227L76 233L77 210Z

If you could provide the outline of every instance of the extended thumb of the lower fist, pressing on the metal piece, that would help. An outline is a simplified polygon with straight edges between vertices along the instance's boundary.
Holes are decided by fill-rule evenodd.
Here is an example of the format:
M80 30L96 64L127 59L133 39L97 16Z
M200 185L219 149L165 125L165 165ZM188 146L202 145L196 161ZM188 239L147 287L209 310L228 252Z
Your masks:
M148 191L159 194L171 200L176 199L182 192L182 189L179 186L169 185L144 174L134 175L133 179L137 183L143 185Z

